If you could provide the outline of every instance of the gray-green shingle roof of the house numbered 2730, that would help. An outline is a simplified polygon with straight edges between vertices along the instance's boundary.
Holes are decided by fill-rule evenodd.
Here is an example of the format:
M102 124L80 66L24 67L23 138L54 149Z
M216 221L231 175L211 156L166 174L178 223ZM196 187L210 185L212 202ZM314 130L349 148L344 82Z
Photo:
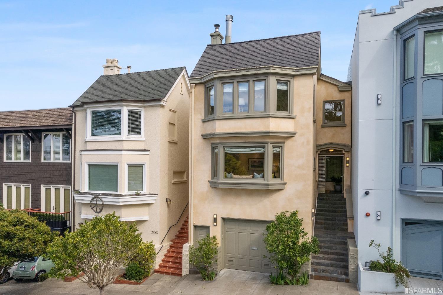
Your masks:
M99 101L163 99L184 69L100 76L72 106Z

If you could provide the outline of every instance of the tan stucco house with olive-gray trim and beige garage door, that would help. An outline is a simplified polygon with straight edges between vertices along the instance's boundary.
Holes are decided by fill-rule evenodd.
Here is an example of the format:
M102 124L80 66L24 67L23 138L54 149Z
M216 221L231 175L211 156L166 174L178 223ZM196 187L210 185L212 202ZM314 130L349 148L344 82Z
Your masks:
M328 172L345 201L351 85L321 74L320 32L223 44L217 26L190 75L189 244L217 235L218 270L272 272L263 237L277 213L298 210L316 234Z

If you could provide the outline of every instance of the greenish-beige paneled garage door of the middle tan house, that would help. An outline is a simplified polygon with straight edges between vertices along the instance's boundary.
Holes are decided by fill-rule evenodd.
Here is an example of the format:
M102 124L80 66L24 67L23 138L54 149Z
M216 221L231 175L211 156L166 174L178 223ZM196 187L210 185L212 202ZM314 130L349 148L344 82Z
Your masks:
M224 219L223 255L225 268L253 272L271 272L264 248L264 233L269 222Z

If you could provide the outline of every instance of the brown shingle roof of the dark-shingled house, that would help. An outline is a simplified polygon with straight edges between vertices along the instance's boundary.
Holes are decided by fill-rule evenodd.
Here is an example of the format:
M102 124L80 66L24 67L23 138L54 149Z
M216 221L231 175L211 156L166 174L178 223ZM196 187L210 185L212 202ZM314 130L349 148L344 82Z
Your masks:
M0 111L0 128L64 126L72 124L70 107L27 111Z

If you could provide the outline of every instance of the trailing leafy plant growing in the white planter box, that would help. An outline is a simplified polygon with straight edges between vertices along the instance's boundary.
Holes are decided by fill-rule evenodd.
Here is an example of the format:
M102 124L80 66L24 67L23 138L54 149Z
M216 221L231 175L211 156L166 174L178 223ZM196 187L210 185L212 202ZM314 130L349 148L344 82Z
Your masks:
M411 275L407 268L405 268L400 261L396 261L393 258L392 248L388 247L388 250L380 253L381 244L376 244L374 240L369 243L369 247L374 247L378 251L383 262L377 259L377 261L371 261L369 264L369 270L374 272L389 272L395 274L395 286L398 287L402 284L404 287L408 287L407 277L410 278Z

